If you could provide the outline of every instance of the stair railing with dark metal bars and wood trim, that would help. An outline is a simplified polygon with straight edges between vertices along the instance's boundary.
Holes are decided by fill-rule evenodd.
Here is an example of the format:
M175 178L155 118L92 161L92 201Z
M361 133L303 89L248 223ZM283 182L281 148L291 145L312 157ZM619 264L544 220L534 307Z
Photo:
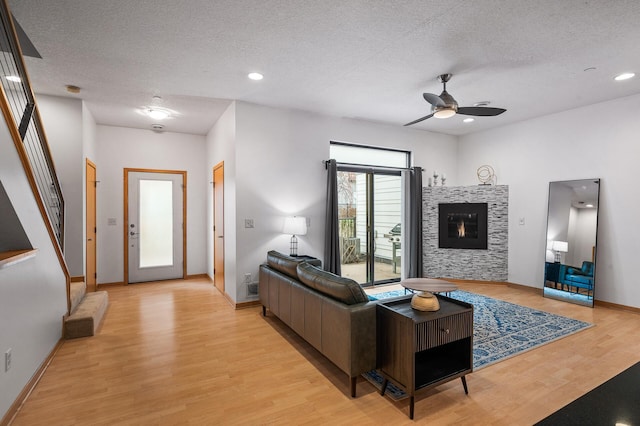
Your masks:
M63 255L64 197L7 0L0 1L0 83L0 109L67 278L69 311L70 275Z

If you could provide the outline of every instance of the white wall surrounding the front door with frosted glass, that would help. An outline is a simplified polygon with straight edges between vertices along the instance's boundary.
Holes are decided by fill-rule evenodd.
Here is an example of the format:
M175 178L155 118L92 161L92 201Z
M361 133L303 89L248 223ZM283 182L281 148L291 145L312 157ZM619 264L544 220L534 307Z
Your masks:
M124 169L187 171L187 274L206 272L205 137L98 125L98 284L124 280ZM84 166L83 166L84 167ZM108 225L108 219L115 225Z

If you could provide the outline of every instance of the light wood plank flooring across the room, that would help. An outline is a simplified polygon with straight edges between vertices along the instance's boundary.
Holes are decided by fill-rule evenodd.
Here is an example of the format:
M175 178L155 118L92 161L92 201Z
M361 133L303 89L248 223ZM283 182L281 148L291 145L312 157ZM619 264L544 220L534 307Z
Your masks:
M382 397L261 308L234 310L206 280L108 289L98 335L66 341L14 425L531 425L640 361L640 314L504 284L462 289L596 326L418 393Z

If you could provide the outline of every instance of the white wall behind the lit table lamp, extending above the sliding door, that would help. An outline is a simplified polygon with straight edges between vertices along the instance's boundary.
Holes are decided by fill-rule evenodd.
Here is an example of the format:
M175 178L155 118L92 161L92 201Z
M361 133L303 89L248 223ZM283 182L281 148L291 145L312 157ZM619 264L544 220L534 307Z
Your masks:
M282 234L284 217L311 221L298 237L298 252L322 259L329 142L400 148L426 170L457 175L457 138L402 126L322 116L301 111L236 102L236 244L235 300L246 298L245 273L257 280L266 253L287 253L290 236ZM225 168L226 171L226 168ZM427 176L423 176L427 181ZM226 182L226 178L225 178ZM245 229L244 219L254 228Z

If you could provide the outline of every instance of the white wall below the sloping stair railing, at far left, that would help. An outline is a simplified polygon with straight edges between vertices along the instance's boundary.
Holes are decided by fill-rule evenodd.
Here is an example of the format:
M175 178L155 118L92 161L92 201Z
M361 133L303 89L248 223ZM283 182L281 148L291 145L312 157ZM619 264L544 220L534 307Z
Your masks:
M67 310L65 276L4 120L0 120L0 181L20 218L35 258L0 269L0 418L61 337Z

